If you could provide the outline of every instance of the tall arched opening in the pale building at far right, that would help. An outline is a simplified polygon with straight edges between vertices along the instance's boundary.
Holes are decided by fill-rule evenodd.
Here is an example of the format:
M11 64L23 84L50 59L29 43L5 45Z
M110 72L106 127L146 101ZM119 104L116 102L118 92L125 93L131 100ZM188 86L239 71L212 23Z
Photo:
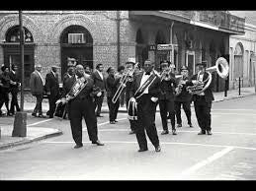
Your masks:
M238 42L234 50L234 79L243 77L243 45Z

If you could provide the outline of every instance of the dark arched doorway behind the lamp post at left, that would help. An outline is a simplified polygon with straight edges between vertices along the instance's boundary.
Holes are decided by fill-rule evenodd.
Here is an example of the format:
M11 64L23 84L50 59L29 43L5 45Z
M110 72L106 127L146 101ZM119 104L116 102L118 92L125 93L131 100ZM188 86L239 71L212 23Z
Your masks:
M35 67L35 43L32 32L24 27L24 88L30 89L31 73ZM21 79L21 55L20 55L20 28L14 26L5 34L5 42L2 44L4 49L4 65L11 67L18 66L18 76Z

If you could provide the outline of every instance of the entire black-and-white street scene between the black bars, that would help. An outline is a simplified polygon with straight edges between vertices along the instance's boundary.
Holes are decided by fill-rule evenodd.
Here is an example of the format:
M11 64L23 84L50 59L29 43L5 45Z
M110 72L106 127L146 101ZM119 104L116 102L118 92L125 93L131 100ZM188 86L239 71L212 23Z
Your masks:
M0 10L0 181L256 180L256 11Z

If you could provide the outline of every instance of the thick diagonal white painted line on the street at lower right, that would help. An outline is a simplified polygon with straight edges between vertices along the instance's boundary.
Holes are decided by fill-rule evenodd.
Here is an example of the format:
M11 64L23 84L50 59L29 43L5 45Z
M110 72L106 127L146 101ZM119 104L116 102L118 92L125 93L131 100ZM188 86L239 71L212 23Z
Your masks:
M221 157L223 157L224 155L226 155L227 153L229 153L230 151L233 150L233 147L226 147L225 149L221 150L220 152L215 153L213 156L211 156L208 159L204 159L198 163L196 163L195 165L189 167L188 169L184 170L183 172L181 172L178 175L178 179L186 179L186 176L191 175L192 173L195 173L198 169L202 168L203 166L210 164L211 162L213 162L216 159L219 159Z

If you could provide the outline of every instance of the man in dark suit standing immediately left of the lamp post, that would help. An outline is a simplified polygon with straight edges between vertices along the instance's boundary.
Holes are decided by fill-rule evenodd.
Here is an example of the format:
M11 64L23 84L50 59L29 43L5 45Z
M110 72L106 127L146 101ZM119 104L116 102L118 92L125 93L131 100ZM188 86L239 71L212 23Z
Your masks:
M19 106L19 103L18 103L18 98L17 98L18 93L19 93L20 79L19 79L18 74L17 74L18 67L13 64L11 69L12 70L9 73L9 76L10 76L10 79L11 79L10 92L11 92L11 95L12 95L10 112L12 114L14 114L15 113L14 107L16 107L16 111L21 110L20 106Z

